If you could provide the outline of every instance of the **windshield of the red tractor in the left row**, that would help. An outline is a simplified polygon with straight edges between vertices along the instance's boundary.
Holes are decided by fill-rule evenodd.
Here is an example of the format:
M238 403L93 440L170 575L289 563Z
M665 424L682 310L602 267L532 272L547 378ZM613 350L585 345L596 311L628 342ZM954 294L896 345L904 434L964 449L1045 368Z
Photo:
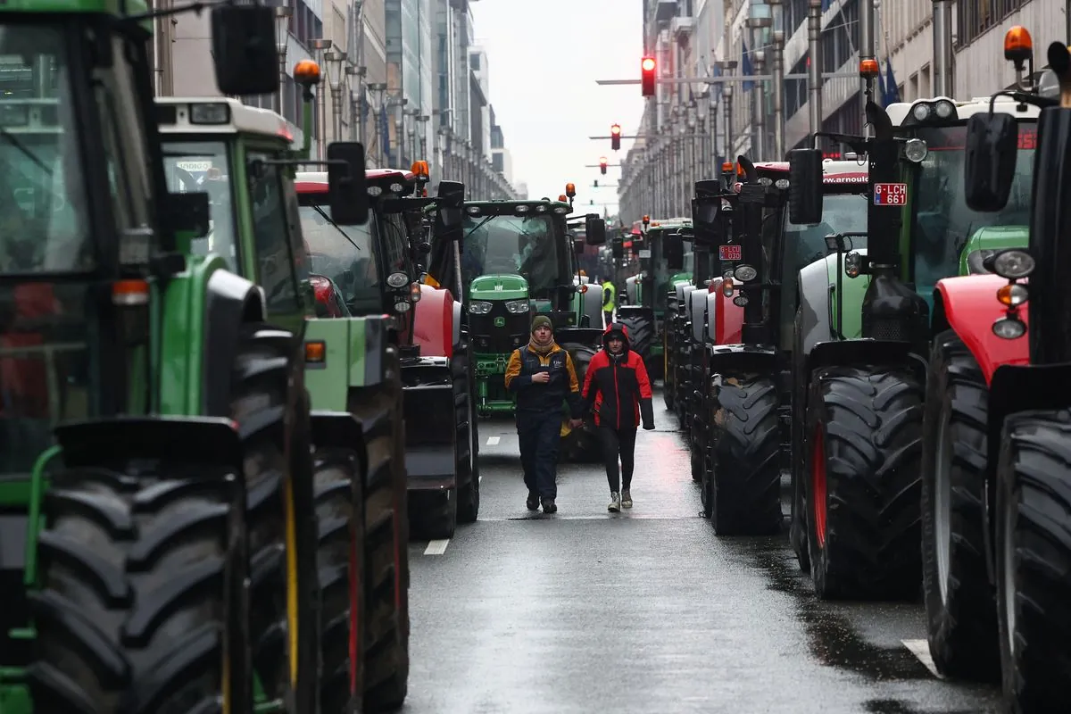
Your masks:
M350 310L364 315L379 309L379 270L373 250L375 221L363 226L338 226L327 208L301 207L301 232L308 252L310 272L338 286Z

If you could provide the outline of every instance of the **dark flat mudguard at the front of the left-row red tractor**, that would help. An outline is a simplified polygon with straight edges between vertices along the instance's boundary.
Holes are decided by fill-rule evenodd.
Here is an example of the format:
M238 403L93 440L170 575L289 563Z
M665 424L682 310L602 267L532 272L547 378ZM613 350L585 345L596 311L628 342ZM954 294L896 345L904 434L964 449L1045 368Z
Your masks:
M447 358L402 363L405 462L409 490L442 490L457 485L454 440L454 385Z

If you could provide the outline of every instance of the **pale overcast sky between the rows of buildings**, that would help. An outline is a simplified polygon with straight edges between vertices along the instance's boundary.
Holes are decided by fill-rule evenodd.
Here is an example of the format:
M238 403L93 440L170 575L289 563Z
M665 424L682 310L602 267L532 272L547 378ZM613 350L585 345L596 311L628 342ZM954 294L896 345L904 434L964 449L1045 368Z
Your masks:
M533 198L557 198L576 184L577 208L595 203L617 211L620 169L632 145L610 151L614 122L622 134L638 128L639 85L601 87L597 79L639 79L643 16L639 0L479 0L472 3L476 42L487 50L489 100L513 156L513 181ZM599 188L592 183L598 180ZM604 183L610 186L603 188ZM602 208L598 207L599 212Z

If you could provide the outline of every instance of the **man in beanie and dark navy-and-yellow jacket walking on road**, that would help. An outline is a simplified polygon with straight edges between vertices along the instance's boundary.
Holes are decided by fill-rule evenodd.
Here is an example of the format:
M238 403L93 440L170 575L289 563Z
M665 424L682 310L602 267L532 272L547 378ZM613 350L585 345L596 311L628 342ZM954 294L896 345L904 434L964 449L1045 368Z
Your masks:
M569 401L570 425L583 424L580 389L569 352L554 341L550 318L532 320L531 339L513 350L506 367L506 389L517 395L517 436L521 464L528 487L529 511L555 513L558 506L558 442L561 439L561 405Z

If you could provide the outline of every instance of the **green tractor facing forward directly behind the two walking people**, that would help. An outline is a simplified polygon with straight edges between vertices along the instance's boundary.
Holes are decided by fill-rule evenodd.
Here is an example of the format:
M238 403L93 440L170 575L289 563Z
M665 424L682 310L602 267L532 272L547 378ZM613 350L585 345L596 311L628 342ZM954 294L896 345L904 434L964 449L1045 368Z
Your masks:
M546 314L555 337L567 349L583 380L602 338L602 294L578 283L575 248L567 231L570 204L558 201L469 201L462 237L433 236L425 282L462 295L472 347L477 411L481 416L512 414L506 366L513 350L528 344L532 318ZM605 243L605 224L585 216L585 241ZM594 458L592 425L570 429L562 423L561 455Z

